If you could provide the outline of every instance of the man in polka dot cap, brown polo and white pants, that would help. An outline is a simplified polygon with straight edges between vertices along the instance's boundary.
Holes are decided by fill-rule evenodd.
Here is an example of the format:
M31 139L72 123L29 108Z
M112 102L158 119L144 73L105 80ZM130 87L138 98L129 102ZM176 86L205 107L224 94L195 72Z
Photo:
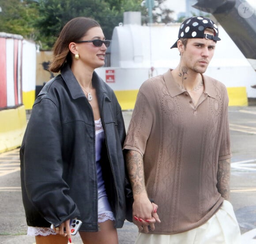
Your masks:
M171 47L181 55L177 68L139 89L124 143L137 244L240 243L228 201L229 99L203 75L219 40L211 19L186 19Z

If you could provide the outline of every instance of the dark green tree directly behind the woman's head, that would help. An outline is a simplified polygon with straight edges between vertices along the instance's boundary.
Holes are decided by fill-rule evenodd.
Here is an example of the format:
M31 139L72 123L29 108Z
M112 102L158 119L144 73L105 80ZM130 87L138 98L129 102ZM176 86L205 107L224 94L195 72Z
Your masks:
M106 39L111 39L114 27L123 21L124 11L143 11L143 7L140 0L40 0L38 41L43 49L51 48L63 26L79 16L96 19Z

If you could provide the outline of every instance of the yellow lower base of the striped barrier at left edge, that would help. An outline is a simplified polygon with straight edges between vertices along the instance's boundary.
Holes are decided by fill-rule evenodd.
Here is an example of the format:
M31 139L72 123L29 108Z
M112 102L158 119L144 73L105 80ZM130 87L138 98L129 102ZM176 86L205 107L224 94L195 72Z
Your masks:
M0 111L0 153L21 146L26 129L25 106Z

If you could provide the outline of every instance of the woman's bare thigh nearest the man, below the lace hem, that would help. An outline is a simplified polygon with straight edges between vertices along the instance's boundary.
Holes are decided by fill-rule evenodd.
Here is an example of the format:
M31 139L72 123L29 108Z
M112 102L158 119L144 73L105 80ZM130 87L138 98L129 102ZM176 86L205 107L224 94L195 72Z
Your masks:
M83 244L118 244L117 229L112 220L99 223L99 226L98 232L79 231Z

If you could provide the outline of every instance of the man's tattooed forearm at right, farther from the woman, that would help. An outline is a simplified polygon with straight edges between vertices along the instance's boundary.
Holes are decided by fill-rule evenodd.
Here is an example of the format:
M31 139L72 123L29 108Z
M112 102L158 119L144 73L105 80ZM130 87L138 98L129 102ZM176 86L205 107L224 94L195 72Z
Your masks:
M217 188L224 199L230 200L230 159L218 161Z

